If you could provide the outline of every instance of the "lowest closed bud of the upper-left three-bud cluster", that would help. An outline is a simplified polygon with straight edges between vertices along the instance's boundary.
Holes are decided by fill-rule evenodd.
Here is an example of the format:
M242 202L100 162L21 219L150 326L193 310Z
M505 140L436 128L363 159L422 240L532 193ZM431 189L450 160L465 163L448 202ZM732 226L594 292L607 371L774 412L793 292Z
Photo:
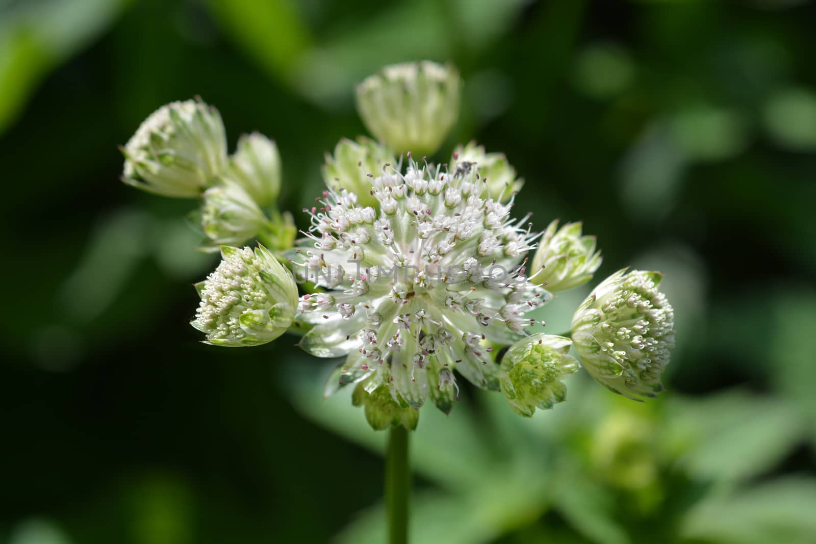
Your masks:
M250 195L237 183L224 184L204 192L202 228L215 250L220 245L242 245L264 228L266 217Z

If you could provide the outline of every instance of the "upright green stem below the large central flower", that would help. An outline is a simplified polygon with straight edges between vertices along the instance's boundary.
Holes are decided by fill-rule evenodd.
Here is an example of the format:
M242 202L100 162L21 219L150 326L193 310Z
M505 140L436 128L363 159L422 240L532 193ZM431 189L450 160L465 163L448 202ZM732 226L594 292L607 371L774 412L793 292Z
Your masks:
M388 544L408 544L408 502L410 466L408 431L391 427L388 457L385 459L385 506L388 508Z

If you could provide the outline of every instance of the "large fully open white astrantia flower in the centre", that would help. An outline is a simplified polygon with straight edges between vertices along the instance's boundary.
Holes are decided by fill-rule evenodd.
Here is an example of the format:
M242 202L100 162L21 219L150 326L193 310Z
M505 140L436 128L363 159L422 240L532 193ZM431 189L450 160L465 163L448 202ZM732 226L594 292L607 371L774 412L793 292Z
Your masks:
M300 346L348 356L332 379L386 387L397 405L419 408L430 394L450 410L454 370L498 390L490 342L523 338L525 312L546 295L517 269L535 238L526 218L511 219L512 200L481 197L473 170L409 161L404 174L368 179L379 210L331 189L306 210L311 241L292 259L295 276L326 292L300 298L300 318L315 325Z

